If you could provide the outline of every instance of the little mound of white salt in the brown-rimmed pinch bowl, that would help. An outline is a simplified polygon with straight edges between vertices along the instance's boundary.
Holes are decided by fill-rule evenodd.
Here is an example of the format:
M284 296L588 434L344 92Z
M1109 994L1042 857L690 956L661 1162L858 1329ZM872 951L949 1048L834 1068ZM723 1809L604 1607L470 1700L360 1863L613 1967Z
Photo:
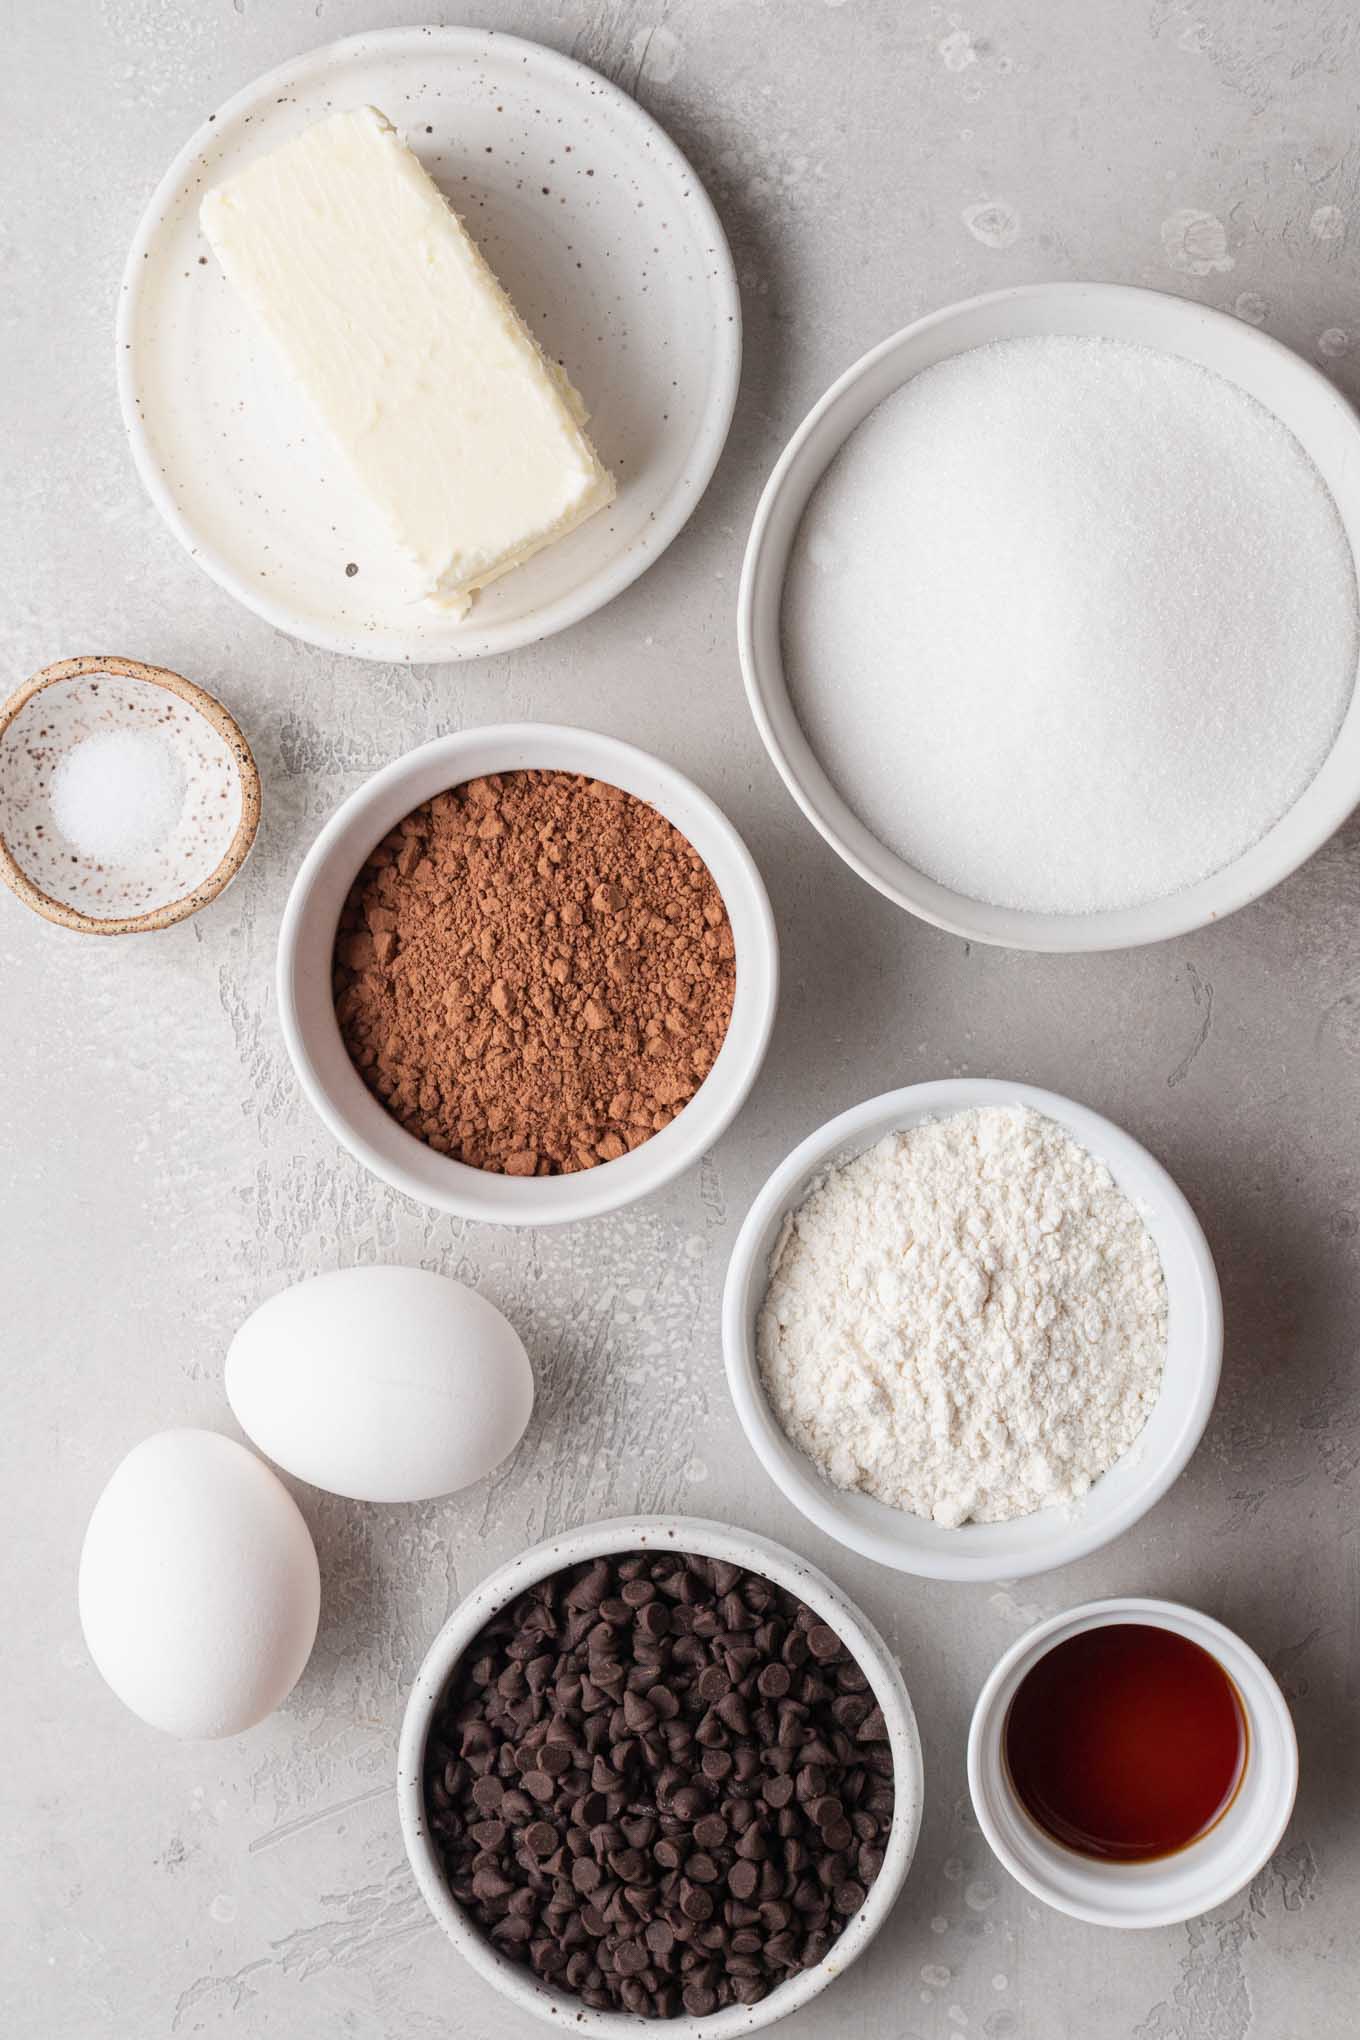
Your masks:
M51 781L53 820L96 865L128 865L161 849L184 812L184 767L153 730L96 730Z

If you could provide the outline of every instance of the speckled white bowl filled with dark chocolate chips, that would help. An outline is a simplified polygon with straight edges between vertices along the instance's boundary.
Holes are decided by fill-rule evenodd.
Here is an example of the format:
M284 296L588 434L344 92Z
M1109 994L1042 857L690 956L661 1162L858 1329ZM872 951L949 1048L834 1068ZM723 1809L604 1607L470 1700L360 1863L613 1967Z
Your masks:
M398 1758L461 1954L581 2034L726 2040L832 1983L922 1822L897 1663L816 1567L675 1516L551 1538L436 1636Z

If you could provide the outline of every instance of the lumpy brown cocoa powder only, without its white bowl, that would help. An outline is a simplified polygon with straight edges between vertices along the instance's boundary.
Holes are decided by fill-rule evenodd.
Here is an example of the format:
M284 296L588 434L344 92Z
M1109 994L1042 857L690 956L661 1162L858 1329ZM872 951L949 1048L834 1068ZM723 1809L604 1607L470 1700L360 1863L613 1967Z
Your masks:
M377 845L334 942L334 1010L373 1095L440 1155L567 1175L661 1132L732 1018L703 859L616 785L512 771Z

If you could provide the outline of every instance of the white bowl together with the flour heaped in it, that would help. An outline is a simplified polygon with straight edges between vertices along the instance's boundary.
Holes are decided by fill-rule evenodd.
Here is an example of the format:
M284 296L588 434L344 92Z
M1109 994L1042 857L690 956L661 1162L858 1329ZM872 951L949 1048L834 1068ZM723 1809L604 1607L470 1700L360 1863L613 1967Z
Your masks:
M842 1112L752 1204L722 1312L765 1471L930 1579L1019 1579L1138 1522L1199 1444L1223 1312L1166 1171L1024 1083Z

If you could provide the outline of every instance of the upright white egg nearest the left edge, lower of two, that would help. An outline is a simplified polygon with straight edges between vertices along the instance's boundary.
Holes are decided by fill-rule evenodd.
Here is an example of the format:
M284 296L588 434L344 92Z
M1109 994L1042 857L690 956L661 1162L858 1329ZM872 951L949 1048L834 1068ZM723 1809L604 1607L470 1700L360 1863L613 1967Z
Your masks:
M118 1699L171 1736L239 1736L312 1654L316 1548L277 1473L234 1438L163 1430L94 1503L80 1626Z

